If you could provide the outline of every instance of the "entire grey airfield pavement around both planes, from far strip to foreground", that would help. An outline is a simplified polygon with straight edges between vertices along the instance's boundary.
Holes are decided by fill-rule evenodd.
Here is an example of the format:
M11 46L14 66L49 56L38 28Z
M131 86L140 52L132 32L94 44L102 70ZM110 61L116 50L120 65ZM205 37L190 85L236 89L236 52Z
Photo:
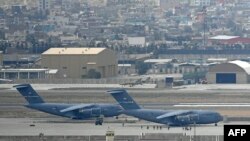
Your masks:
M34 84L35 90L47 102L70 103L114 103L114 99L105 94L113 88L126 88L144 108L158 109L209 109L225 116L238 117L237 122L214 125L196 125L192 130L181 127L168 128L161 124L137 121L124 123L114 118L105 119L102 126L94 121L71 121L51 116L22 105L25 100L13 88L14 84L0 85L0 136L104 136L107 130L115 135L142 134L182 134L200 136L222 136L224 124L250 124L250 85L186 85L172 89L156 89L150 85L122 87L113 84ZM98 87L98 89L95 88ZM195 130L194 130L195 129Z

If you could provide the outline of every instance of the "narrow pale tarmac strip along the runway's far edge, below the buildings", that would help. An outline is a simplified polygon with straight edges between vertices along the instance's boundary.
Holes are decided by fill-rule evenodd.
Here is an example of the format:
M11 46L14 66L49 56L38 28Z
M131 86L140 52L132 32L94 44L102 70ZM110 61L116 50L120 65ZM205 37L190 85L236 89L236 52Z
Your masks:
M0 89L12 89L14 85L17 84L0 84ZM125 88L125 89L154 89L156 84L142 84L134 85L132 87L128 85L120 84L32 84L36 90L50 90L50 89L69 89L69 88ZM184 91L200 91L200 90L250 90L250 84L194 84L194 85L183 85L175 86L172 89L165 89L168 91L171 90L184 90Z

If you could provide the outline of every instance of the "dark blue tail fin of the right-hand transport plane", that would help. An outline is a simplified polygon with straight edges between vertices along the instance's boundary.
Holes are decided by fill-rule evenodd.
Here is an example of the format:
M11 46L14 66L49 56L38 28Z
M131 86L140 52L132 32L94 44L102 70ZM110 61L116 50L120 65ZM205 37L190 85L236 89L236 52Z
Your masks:
M125 110L140 109L140 106L129 96L126 90L111 90L108 91L108 93L111 94Z

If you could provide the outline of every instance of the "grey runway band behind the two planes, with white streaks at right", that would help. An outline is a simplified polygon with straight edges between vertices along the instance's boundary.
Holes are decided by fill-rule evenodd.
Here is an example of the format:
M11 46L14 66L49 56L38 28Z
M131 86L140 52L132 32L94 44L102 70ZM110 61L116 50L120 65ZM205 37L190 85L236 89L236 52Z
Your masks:
M111 88L86 88L84 85L35 84L34 89L46 102L117 103L106 93ZM0 118L55 117L23 107L26 101L12 86L0 85ZM226 117L250 118L250 85L188 85L173 89L130 88L127 91L143 108L215 110Z

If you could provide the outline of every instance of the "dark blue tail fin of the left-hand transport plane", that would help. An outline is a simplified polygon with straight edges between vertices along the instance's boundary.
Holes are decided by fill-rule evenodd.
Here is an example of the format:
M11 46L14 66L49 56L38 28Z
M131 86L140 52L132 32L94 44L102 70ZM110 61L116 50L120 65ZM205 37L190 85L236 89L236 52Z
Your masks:
M44 103L30 84L20 84L14 86L17 91L27 100L29 104Z

